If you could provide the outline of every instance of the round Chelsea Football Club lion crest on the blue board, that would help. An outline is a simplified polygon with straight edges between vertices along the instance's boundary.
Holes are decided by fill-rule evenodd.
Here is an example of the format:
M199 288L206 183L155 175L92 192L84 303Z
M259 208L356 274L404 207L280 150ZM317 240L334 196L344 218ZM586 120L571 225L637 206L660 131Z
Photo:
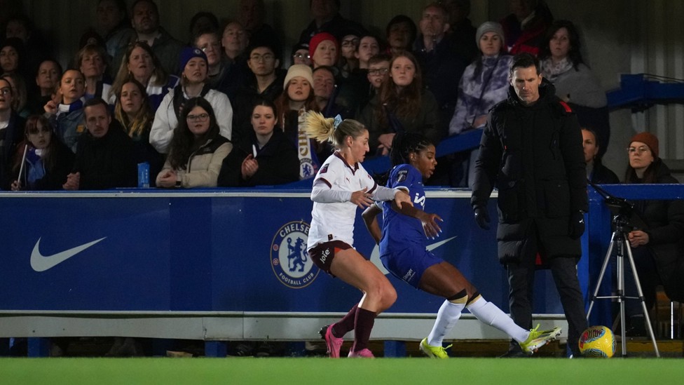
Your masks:
M298 221L283 225L273 237L271 267L278 281L288 288L306 288L320 272L306 250L308 234L309 224Z

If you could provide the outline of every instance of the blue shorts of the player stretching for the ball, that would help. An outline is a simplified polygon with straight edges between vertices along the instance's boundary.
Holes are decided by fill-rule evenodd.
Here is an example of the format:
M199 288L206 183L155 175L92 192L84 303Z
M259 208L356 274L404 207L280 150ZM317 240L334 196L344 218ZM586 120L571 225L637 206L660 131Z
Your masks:
M442 258L435 257L432 252L425 250L424 246L409 246L400 252L382 255L380 260L393 276L414 288L418 288L420 278L428 267L443 261Z

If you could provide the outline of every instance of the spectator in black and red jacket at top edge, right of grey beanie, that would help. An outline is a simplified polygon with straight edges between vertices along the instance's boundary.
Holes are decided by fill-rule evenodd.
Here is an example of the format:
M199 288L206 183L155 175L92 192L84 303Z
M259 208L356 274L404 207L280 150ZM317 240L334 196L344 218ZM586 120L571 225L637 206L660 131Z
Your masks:
M503 27L508 53L538 55L544 34L554 20L544 0L508 0L511 12L499 22Z

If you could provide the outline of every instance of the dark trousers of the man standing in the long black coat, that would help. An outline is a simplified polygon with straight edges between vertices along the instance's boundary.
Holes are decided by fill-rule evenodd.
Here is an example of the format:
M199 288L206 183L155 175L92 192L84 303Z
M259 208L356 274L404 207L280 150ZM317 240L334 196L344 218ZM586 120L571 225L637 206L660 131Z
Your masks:
M532 299L535 276L535 258L538 249L536 239L526 242L525 257L519 263L507 264L509 283L509 306L511 317L517 325L524 329L531 329ZM533 252L533 254L529 254ZM568 320L568 346L573 355L580 355L577 342L580 334L587 328L587 314L584 311L584 297L577 279L577 257L556 256L547 258L547 265L551 269L556 289L561 297L563 312ZM510 351L520 351L520 346L511 341Z

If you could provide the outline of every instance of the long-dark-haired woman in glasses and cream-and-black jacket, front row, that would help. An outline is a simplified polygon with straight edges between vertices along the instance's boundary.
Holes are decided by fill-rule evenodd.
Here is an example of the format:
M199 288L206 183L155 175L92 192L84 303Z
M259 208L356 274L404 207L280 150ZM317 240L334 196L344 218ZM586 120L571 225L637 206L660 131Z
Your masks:
M157 175L157 187L216 187L221 163L233 144L221 136L212 105L203 97L186 102Z

